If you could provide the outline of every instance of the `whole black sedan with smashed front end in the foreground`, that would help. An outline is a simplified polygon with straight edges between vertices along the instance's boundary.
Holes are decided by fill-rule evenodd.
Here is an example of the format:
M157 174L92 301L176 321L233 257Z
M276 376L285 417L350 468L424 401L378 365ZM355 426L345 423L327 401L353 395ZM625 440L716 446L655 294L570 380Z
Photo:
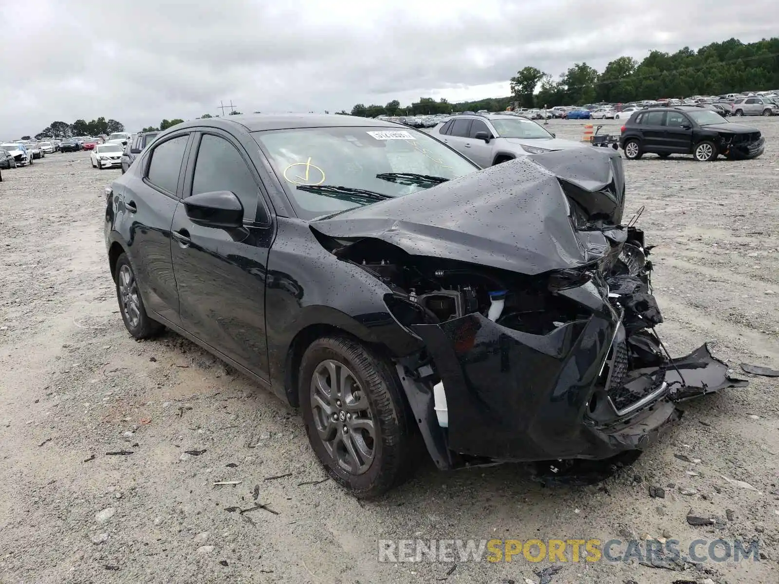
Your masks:
M130 334L172 329L300 408L359 497L417 436L441 469L612 459L739 383L664 352L610 149L481 171L390 122L231 116L160 135L106 196Z

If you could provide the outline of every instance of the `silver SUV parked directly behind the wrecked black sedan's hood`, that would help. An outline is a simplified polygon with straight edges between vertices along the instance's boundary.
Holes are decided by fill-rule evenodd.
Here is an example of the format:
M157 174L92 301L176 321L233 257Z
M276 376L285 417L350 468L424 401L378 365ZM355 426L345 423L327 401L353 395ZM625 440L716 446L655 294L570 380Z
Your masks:
M583 148L583 142L556 138L527 118L495 114L455 115L438 128L435 137L480 167L489 167L528 154Z

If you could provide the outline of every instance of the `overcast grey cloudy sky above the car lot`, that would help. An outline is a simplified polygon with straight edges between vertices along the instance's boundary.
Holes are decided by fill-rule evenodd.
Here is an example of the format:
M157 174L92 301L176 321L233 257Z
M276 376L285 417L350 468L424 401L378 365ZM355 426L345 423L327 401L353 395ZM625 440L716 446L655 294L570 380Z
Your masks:
M0 0L0 138L104 116L351 110L509 94L620 55L779 33L776 0ZM738 9L735 6L738 5ZM12 58L13 57L13 58Z

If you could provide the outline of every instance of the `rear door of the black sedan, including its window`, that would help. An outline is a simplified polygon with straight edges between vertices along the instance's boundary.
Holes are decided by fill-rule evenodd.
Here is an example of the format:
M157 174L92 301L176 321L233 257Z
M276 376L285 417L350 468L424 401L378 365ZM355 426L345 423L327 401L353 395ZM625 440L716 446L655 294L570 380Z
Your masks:
M143 157L141 172L115 189L115 229L125 240L143 304L178 324L178 291L171 261L171 222L182 192L189 131L176 132Z

